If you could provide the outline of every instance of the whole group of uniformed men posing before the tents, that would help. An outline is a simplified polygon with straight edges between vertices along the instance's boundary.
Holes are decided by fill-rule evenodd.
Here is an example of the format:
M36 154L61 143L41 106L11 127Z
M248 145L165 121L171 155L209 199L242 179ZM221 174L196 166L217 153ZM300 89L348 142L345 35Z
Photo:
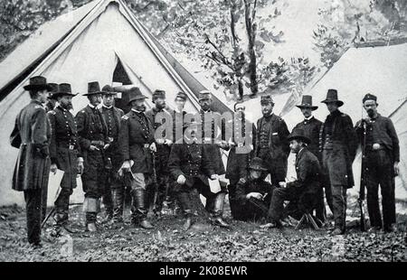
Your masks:
M166 92L157 89L152 95L154 107L147 110L147 96L132 87L126 91L131 109L125 114L115 107L114 89L109 85L100 89L99 82L90 82L83 94L89 104L73 117L70 110L75 94L70 84L51 84L36 76L24 89L32 101L16 117L11 135L11 144L20 149L13 188L24 191L28 241L34 246L41 242L48 176L57 169L63 171L63 178L53 217L56 235L73 230L68 212L78 174L89 231L98 230L100 201L106 210L103 222L123 222L127 189L132 223L153 229L148 210L159 215L165 201L176 201L185 216L185 230L194 223L194 190L205 197L211 221L225 228L229 227L222 218L227 193L233 219L264 219L270 227L280 228L288 216L300 219L314 211L315 219L324 223L325 190L335 221L332 234L343 234L346 190L354 186L352 163L358 144L364 151L371 225L376 230L393 230L393 177L398 173L399 143L391 119L377 113L374 95L364 97L368 117L355 127L339 111L344 102L335 89L329 89L322 101L330 112L324 123L312 116L317 109L312 98L303 96L298 107L305 120L290 134L285 121L273 114L269 95L260 98L263 117L255 126L246 119L243 103L235 104L231 119L217 122L221 114L213 112L213 97L206 90L199 93L199 113L191 115L185 112L187 96L183 92L176 94L172 110L166 105ZM229 153L226 168L222 150ZM296 154L297 179L287 182L290 152ZM228 183L219 180L222 175ZM266 180L268 175L270 180ZM212 182L219 182L216 191Z

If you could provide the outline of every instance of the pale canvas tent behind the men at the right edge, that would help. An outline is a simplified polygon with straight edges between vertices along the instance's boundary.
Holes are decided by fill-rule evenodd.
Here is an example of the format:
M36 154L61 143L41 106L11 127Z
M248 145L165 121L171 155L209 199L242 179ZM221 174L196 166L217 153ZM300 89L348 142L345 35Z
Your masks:
M337 89L345 102L340 109L355 122L366 114L362 98L372 93L378 98L378 111L391 117L400 140L400 176L396 177L396 199L407 201L407 43L392 46L351 48L319 79L308 94L319 106L314 115L324 121L327 107L320 103L327 97L327 89ZM303 119L300 110L294 107L284 119L290 128ZM354 163L357 194L360 180L360 154Z

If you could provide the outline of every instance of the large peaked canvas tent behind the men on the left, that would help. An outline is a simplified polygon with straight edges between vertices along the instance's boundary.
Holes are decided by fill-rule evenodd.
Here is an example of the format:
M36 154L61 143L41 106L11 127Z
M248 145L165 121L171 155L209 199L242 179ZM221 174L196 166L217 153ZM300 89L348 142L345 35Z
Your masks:
M131 83L147 95L165 89L170 107L175 94L184 91L190 112L196 111L198 92L204 89L121 0L93 1L45 23L0 63L0 205L23 200L11 190L17 150L8 139L15 116L29 102L23 86L35 75L43 75L50 82L69 82L72 91L80 93L87 91L92 80L98 80L100 86L113 81ZM86 104L86 98L73 98L76 111ZM217 98L213 108L229 110Z

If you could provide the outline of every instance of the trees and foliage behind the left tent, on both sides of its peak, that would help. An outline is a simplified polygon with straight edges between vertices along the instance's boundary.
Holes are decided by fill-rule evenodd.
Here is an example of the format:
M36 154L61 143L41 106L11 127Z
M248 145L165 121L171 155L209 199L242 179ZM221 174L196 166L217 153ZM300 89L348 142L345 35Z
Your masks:
M198 61L212 76L214 88L223 89L227 95L253 97L270 89L286 92L298 83L290 80L297 75L291 72L295 71L292 62L263 60L266 45L284 42L284 33L275 30L274 20L283 13L286 0L124 1L160 42L175 54ZM5 33L0 36L0 60L42 23L88 2L2 3L0 24Z

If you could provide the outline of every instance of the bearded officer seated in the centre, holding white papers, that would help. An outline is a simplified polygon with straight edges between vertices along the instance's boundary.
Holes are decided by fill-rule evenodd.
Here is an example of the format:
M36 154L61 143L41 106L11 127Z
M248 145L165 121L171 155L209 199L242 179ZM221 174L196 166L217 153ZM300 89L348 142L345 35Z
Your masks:
M191 227L194 214L191 191L196 189L207 201L217 196L209 187L208 177L216 180L217 175L213 170L213 159L198 139L199 125L201 124L196 121L185 122L184 128L188 127L189 133L185 132L183 144L173 145L168 161L168 169L175 180L175 193L185 215L185 230ZM218 219L222 219L219 216L220 210L215 208L212 211ZM219 224L222 226L222 223Z

